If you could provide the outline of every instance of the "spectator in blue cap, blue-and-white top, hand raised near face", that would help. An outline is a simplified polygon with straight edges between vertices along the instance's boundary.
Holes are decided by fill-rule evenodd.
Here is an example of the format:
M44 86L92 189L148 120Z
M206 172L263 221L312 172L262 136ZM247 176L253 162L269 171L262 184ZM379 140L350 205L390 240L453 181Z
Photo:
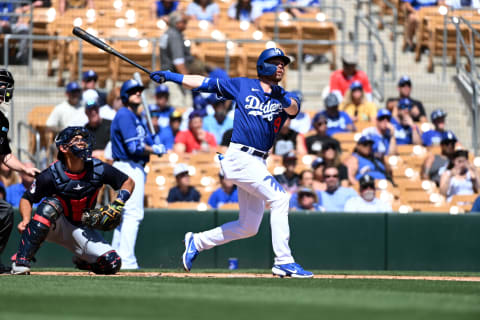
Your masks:
M395 127L395 140L397 145L421 144L420 129L410 116L412 104L409 99L403 98L398 101L398 121L392 118Z

